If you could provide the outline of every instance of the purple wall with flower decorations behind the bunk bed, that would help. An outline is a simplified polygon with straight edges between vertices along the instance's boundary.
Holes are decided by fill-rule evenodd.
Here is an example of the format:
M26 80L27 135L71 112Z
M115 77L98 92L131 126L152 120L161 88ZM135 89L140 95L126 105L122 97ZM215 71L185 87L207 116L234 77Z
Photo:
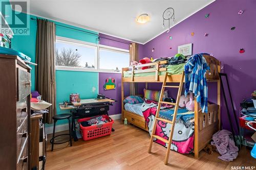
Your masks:
M193 54L209 53L222 62L238 113L242 99L249 98L256 87L255 8L254 0L217 0L170 29L169 33L163 33L146 43L140 59L174 56L178 45L193 43ZM239 15L239 10L244 13ZM209 17L205 18L208 13ZM231 31L231 27L236 29ZM191 32L195 35L191 36ZM207 37L204 36L205 33L208 33ZM169 40L169 36L173 39ZM154 52L152 48L155 48ZM240 54L240 48L244 48L245 53ZM216 87L211 87L214 85L209 85L209 93L216 91ZM209 95L209 98L209 101L216 102L216 96ZM229 129L224 107L222 125Z

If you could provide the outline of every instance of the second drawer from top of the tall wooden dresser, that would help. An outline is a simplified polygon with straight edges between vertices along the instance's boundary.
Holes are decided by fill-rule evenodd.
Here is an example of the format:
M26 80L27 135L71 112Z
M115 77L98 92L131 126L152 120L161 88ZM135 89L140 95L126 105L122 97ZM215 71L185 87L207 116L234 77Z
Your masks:
M27 98L16 102L17 130L22 125L24 119L28 115Z

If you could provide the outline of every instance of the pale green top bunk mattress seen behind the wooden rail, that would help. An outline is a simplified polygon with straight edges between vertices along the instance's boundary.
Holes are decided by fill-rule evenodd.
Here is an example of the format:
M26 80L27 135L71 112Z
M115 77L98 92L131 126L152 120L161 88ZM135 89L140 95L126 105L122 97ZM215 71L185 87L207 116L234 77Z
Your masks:
M181 75L184 71L184 66L186 63L177 64L177 65L168 65L166 71L159 71L159 76L163 76L165 72L168 72L170 75ZM145 77L145 76L155 76L156 72L142 72L134 74L134 77ZM123 71L123 77L132 77L132 70Z

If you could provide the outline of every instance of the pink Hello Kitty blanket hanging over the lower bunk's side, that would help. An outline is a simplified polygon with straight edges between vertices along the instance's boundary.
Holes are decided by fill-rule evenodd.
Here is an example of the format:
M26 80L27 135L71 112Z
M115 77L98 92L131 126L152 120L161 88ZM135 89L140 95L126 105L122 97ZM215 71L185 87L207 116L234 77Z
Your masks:
M155 103L144 102L141 108L146 120L148 132L150 132L150 135L152 135L157 105ZM168 140L171 126L171 124L158 120L156 135ZM154 142L167 148L167 144L158 139L154 139ZM182 154L192 153L194 150L194 126L186 127L184 123L176 122L170 149Z

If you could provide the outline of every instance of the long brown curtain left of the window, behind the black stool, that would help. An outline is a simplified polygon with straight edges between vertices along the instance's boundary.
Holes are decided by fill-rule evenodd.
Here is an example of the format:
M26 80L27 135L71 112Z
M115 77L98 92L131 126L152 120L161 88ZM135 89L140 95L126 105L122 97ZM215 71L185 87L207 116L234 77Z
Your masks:
M36 90L42 99L51 103L46 123L52 124L52 116L56 114L55 84L55 24L45 19L37 19L36 33Z

